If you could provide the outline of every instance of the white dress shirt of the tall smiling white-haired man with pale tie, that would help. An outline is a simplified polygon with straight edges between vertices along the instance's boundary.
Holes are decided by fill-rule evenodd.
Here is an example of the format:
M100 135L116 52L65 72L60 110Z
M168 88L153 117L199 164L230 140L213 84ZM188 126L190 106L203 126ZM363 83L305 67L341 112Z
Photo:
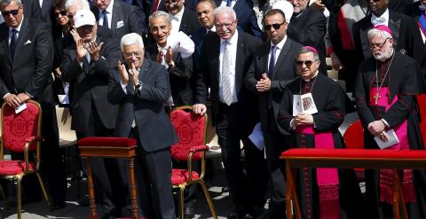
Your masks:
M224 91L223 91L223 86L222 86L222 64L223 64L223 57L224 57L224 52L225 52L225 40L220 39L220 54L219 54L219 72L220 72L220 76L219 76L219 100L222 103L224 102ZM227 49L228 50L232 50L232 60L229 62L231 65L229 66L229 68L232 70L233 74L235 75L235 61L237 58L237 45L238 45L238 30L235 30L235 34L233 34L233 36L228 40L228 45L227 45ZM238 98L237 98L237 90L235 88L235 76L231 77L230 79L231 81L231 90L233 93L233 103L238 102Z

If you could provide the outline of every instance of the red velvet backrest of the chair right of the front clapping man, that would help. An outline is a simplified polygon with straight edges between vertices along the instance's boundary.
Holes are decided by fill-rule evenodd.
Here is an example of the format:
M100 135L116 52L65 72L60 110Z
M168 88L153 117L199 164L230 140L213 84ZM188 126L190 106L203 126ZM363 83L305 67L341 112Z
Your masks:
M197 115L191 107L180 107L170 113L170 120L180 140L171 146L171 157L187 160L191 147L205 145L207 115ZM193 160L200 159L201 152L193 154Z

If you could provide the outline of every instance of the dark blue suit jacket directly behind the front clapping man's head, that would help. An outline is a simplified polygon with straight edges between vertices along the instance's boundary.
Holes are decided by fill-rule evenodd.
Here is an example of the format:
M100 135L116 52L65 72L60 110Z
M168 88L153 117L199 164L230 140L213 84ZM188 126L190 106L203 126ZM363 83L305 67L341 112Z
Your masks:
M91 12L95 14L96 20L99 20L99 10L96 6L91 7ZM112 19L108 21L111 23L114 39L121 40L123 35L130 33L144 34L144 24L130 4L114 1L112 15Z

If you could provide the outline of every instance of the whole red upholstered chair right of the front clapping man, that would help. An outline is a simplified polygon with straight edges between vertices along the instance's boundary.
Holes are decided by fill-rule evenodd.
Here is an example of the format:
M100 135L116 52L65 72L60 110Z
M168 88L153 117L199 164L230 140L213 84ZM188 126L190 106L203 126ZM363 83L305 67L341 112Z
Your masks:
M216 219L216 210L203 179L206 169L205 153L209 150L209 147L205 145L207 115L197 115L192 113L191 106L182 106L170 113L170 120L180 140L171 146L171 157L175 160L187 161L187 169L173 168L171 172L171 184L173 184L173 188L179 188L180 218L185 217L185 187L190 184L201 184L211 214ZM201 160L201 173L193 171L193 160Z

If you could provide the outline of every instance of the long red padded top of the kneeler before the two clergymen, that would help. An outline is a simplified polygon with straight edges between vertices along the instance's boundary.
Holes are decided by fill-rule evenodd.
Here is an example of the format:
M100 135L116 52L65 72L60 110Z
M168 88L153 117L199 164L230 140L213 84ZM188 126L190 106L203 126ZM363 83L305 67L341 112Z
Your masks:
M287 157L335 157L335 158L398 158L426 159L426 150L381 150L381 149L289 149L281 156Z

